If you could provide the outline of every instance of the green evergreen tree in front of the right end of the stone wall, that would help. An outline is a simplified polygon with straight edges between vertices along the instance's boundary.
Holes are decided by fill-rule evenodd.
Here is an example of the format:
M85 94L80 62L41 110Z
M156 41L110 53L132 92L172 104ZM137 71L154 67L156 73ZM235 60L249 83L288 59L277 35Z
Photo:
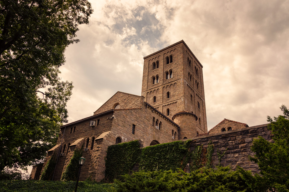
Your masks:
M274 142L260 137L253 141L251 150L256 154L250 160L258 163L261 169L262 185L269 191L288 191L289 189L289 111L280 107L283 115L267 116L268 130L272 131Z

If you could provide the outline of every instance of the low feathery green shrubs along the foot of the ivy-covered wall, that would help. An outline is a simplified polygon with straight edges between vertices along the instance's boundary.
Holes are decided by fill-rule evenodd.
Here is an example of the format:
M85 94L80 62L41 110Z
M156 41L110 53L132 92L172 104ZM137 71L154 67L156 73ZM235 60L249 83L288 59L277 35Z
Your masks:
M247 177L244 177L246 175ZM252 179L249 171L238 169L230 171L230 167L217 167L217 169L201 168L192 173L182 170L136 172L132 175L123 175L124 182L115 180L113 192L124 191L219 191L219 192L250 192L247 182ZM248 180L247 180L248 179ZM254 182L251 180L250 182Z

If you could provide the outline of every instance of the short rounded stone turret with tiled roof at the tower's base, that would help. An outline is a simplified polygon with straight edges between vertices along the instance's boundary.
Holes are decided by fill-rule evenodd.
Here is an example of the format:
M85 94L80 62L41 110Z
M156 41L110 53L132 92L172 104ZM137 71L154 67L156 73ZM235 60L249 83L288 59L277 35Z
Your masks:
M178 134L179 140L184 139L184 137L188 139L197 136L198 117L194 113L180 111L173 116L172 120L180 127Z

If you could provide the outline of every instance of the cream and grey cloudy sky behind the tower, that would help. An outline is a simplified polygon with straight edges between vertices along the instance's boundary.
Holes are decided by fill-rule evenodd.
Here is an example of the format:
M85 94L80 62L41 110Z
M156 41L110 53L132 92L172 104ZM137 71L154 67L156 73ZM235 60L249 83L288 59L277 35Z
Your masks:
M224 118L265 124L289 107L289 1L90 2L60 68L74 85L69 122L117 91L140 95L143 57L182 39L203 65L208 129Z

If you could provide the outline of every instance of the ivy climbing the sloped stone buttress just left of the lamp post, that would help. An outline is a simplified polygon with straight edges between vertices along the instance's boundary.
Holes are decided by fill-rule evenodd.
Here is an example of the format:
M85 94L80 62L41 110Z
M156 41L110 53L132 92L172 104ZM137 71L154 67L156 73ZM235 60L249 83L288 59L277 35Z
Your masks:
M73 152L73 155L66 166L65 170L61 175L61 181L75 181L79 169L79 158L82 156L82 147L76 148Z

